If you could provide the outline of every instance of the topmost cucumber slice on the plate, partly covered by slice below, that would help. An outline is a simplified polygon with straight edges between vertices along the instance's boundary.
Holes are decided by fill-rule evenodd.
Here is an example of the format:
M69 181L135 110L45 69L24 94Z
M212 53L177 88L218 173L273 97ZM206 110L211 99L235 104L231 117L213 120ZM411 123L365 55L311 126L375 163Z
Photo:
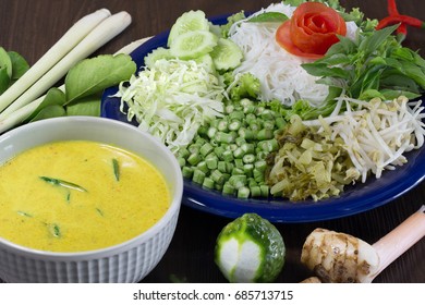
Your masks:
M192 30L209 30L209 22L203 11L183 13L171 27L167 46L170 47L175 37Z

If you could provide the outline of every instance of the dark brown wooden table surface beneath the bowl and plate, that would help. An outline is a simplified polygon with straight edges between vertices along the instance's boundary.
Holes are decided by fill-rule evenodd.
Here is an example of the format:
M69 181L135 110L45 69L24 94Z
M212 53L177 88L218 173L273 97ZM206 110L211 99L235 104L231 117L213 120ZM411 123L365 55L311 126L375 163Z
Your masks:
M398 1L404 14L418 15L425 11L424 1ZM127 11L132 24L120 36L98 50L113 53L122 46L170 28L177 17L189 10L203 10L208 16L240 10L255 11L271 1L212 1L212 0L1 0L0 46L22 53L29 63L40 58L78 19L97 9L112 13ZM345 8L359 7L368 17L386 15L385 0L341 0ZM425 57L425 29L410 29L405 46L420 50ZM422 148L424 149L424 148ZM1 154L1 152L0 152ZM301 224L277 224L287 245L286 266L278 282L299 282L311 276L300 264L305 237L317 227L350 233L374 243L425 203L425 183L422 182L393 202L379 208L336 220ZM215 241L230 220L182 206L172 243L159 265L144 282L226 282L214 264ZM422 240L390 265L375 282L425 282L425 240Z

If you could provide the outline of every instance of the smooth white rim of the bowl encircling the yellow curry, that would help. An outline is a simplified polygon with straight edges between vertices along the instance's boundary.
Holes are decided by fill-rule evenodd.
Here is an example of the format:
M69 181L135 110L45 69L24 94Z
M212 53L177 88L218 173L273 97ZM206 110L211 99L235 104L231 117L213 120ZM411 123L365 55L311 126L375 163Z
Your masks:
M162 144L160 143L156 137L150 135L147 132L142 131L141 129L133 126L131 124L120 122L117 120L111 120L107 118L100 118L100 117L82 117L82 115L75 115L75 117L61 117L61 118L50 118L45 119L41 121L31 122L25 125L21 125L14 130L11 130L9 132L5 132L4 134L0 135L0 145L3 143L3 141L7 141L11 137L21 136L22 134L28 133L28 132L35 132L35 129L40 127L53 127L57 124L77 124L77 123L86 123L86 124L101 124L107 125L109 127L118 127L123 131L132 132L135 134L138 134L139 136L144 136L148 141L150 141L154 145L156 145L155 149L158 149L168 159L170 159L173 170L181 172L180 166L178 163L178 160L172 155L172 152ZM48 134L46 134L48 135ZM48 143L48 136L46 143ZM35 147L35 146L33 146ZM124 148L125 149L125 148ZM1 159L1 158L0 158ZM0 164L3 161L0 160ZM173 183L174 187L174 196L172 197L172 200L170 203L170 206L166 213L149 229L142 232L141 234L124 241L122 243L102 247L99 249L93 249L93 251L82 251L82 252L50 252L50 251L41 251L41 249L35 249L26 246L22 246L19 244L15 244L11 241L8 241L0 236L0 251L5 249L8 252L13 252L20 255L29 256L32 258L38 258L38 259L49 259L49 260L87 260L87 259L94 259L94 258L102 258L102 257L110 257L120 253L123 253L125 251L129 251L136 245L143 244L144 242L151 239L155 234L157 234L161 229L167 227L167 223L169 223L172 218L179 213L182 196L183 196L183 176L182 174L177 174L178 180Z

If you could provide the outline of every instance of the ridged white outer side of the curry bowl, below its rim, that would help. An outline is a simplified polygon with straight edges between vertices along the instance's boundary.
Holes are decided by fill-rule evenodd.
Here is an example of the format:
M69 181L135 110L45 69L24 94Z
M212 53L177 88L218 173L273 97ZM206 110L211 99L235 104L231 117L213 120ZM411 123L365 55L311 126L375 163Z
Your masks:
M0 249L0 274L22 283L133 283L148 274L162 258L174 233L178 215L143 244L96 259L48 260Z

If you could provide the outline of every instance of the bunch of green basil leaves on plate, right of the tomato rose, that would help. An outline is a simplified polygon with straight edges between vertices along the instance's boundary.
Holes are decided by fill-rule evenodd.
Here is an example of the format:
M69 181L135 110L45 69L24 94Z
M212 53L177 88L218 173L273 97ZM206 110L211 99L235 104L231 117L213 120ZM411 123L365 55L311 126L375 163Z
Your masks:
M323 59L303 68L352 98L416 98L425 90L425 60L397 41L396 28L359 33L356 41L340 37Z

